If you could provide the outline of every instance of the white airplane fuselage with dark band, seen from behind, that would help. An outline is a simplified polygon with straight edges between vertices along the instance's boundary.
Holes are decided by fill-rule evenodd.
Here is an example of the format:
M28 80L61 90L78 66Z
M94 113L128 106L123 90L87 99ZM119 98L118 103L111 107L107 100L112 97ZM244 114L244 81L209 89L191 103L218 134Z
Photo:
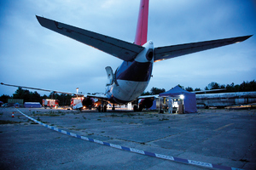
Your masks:
M115 71L113 83L106 86L106 95L110 102L131 102L147 88L154 64L154 43L148 41L143 48L134 60L123 61Z

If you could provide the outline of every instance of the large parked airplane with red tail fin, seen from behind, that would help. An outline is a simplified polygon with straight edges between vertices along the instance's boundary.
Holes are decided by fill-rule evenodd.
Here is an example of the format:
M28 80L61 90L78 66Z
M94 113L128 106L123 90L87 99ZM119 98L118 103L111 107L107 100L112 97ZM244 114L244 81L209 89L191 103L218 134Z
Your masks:
M87 94L84 98L101 99L102 105L99 105L99 111L107 111L106 103L112 103L114 109L114 104L127 104L137 100L148 86L152 77L154 62L242 42L253 36L230 37L154 48L154 42L147 40L148 3L149 0L141 0L140 2L134 42L125 42L36 15L41 26L123 60L114 73L110 66L105 68L108 76L105 94ZM142 98L140 97L140 99ZM152 97L149 96L148 98L150 101L152 100ZM135 105L134 111L137 109L137 105Z

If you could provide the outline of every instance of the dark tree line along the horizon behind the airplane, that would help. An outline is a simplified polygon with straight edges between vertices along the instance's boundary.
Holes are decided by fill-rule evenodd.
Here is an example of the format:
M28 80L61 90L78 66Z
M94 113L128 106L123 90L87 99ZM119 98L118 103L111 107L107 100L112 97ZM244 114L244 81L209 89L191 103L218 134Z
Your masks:
M202 90L212 90L212 89L222 89L225 88L224 93L230 93L230 92L250 92L250 91L256 91L256 82L255 80L251 82L242 82L241 84L236 84L232 82L231 84L219 84L217 82L211 82L209 83L206 88L191 88L187 87L184 88L180 84L178 84L180 88L183 88L184 90L187 90L189 92L195 92L195 91L202 91ZM154 94L161 94L166 92L165 88L151 88L149 92L144 92L142 95L154 95ZM70 105L70 100L72 98L72 95L69 94L49 94L48 96L44 94L44 96L41 96L38 94L37 91L30 92L27 89L18 88L15 91L15 94L13 96L5 95L3 94L0 97L0 101L3 101L3 103L7 103L8 99L24 99L24 102L40 102L42 103L43 99L58 99L60 101L60 105Z

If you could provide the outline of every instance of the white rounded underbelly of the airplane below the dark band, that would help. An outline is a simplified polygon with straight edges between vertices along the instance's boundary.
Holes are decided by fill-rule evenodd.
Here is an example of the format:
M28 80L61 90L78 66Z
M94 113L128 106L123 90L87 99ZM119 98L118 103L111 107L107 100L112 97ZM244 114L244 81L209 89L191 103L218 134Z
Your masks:
M113 88L113 97L122 101L131 101L137 99L145 88L148 82L134 82L127 80L117 80L118 86Z

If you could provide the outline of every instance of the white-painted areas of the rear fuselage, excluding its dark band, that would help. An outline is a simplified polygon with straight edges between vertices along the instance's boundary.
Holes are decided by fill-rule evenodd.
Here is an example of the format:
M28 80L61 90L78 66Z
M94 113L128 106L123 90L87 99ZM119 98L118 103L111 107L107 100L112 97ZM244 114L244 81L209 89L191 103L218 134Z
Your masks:
M143 51L137 54L137 57L134 60L139 63L151 62L152 69L153 69L154 56L151 60L148 60L146 57L146 54L148 52L148 49L150 48L154 49L154 43L152 41L148 41L143 45L143 47L144 47ZM126 74L131 74L131 73L127 72ZM106 95L108 99L112 99L114 97L116 99L125 101L125 103L126 102L128 103L134 99L137 99L137 97L143 94L144 90L148 86L149 79L150 77L146 82L135 82L135 81L118 79L116 80L117 83L113 81L113 84L106 86Z

